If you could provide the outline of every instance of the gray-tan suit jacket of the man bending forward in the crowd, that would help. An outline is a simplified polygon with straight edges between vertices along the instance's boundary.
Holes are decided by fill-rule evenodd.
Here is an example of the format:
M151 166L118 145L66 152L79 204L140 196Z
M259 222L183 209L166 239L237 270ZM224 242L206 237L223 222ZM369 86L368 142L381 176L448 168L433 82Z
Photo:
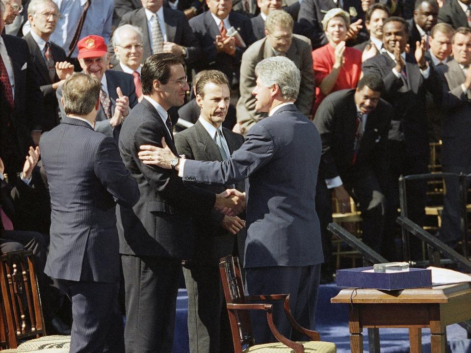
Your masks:
M255 66L275 53L266 38L252 44L242 55L240 65L240 98L237 101L237 121L248 128L266 117L266 113L255 111L255 97L252 90L255 87ZM311 41L297 34L293 34L293 41L286 53L301 71L301 84L298 99L295 104L299 111L309 117L315 99L315 82L313 72L313 57L311 54Z

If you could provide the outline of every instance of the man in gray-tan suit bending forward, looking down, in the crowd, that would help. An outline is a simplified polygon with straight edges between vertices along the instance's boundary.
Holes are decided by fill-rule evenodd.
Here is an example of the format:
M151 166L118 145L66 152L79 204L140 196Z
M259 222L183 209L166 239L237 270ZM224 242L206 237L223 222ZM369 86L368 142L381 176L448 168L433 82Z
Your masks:
M294 62L301 72L299 95L295 101L301 114L309 117L315 98L315 82L311 41L293 34L293 19L283 10L272 10L265 21L266 37L252 44L242 55L240 65L240 98L237 101L237 122L250 129L267 116L256 111L256 99L252 94L255 87L255 66L261 60L282 55Z

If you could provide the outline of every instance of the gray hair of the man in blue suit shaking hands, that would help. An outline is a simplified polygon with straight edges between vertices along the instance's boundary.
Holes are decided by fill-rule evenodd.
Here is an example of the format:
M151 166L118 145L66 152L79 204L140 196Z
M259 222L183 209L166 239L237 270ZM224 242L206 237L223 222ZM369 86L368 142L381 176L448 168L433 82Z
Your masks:
M278 85L285 101L296 101L301 82L301 73L286 56L272 56L263 59L255 67L255 75L264 85Z

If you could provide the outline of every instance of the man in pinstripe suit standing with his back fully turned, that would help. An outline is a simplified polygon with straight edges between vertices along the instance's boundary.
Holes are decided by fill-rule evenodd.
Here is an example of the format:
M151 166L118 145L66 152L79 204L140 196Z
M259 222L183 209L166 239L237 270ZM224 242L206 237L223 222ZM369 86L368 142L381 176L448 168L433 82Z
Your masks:
M71 353L124 353L115 206L132 207L139 190L113 138L93 129L99 94L92 76L67 79L61 99L67 117L40 141L51 194L45 273L72 300Z

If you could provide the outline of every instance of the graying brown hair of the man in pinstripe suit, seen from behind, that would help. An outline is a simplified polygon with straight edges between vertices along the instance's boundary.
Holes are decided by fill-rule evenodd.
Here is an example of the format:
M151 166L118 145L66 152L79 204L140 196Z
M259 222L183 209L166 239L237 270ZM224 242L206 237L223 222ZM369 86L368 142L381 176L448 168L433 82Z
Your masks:
M62 85L64 110L67 115L87 115L95 108L100 97L101 83L98 78L75 73Z

